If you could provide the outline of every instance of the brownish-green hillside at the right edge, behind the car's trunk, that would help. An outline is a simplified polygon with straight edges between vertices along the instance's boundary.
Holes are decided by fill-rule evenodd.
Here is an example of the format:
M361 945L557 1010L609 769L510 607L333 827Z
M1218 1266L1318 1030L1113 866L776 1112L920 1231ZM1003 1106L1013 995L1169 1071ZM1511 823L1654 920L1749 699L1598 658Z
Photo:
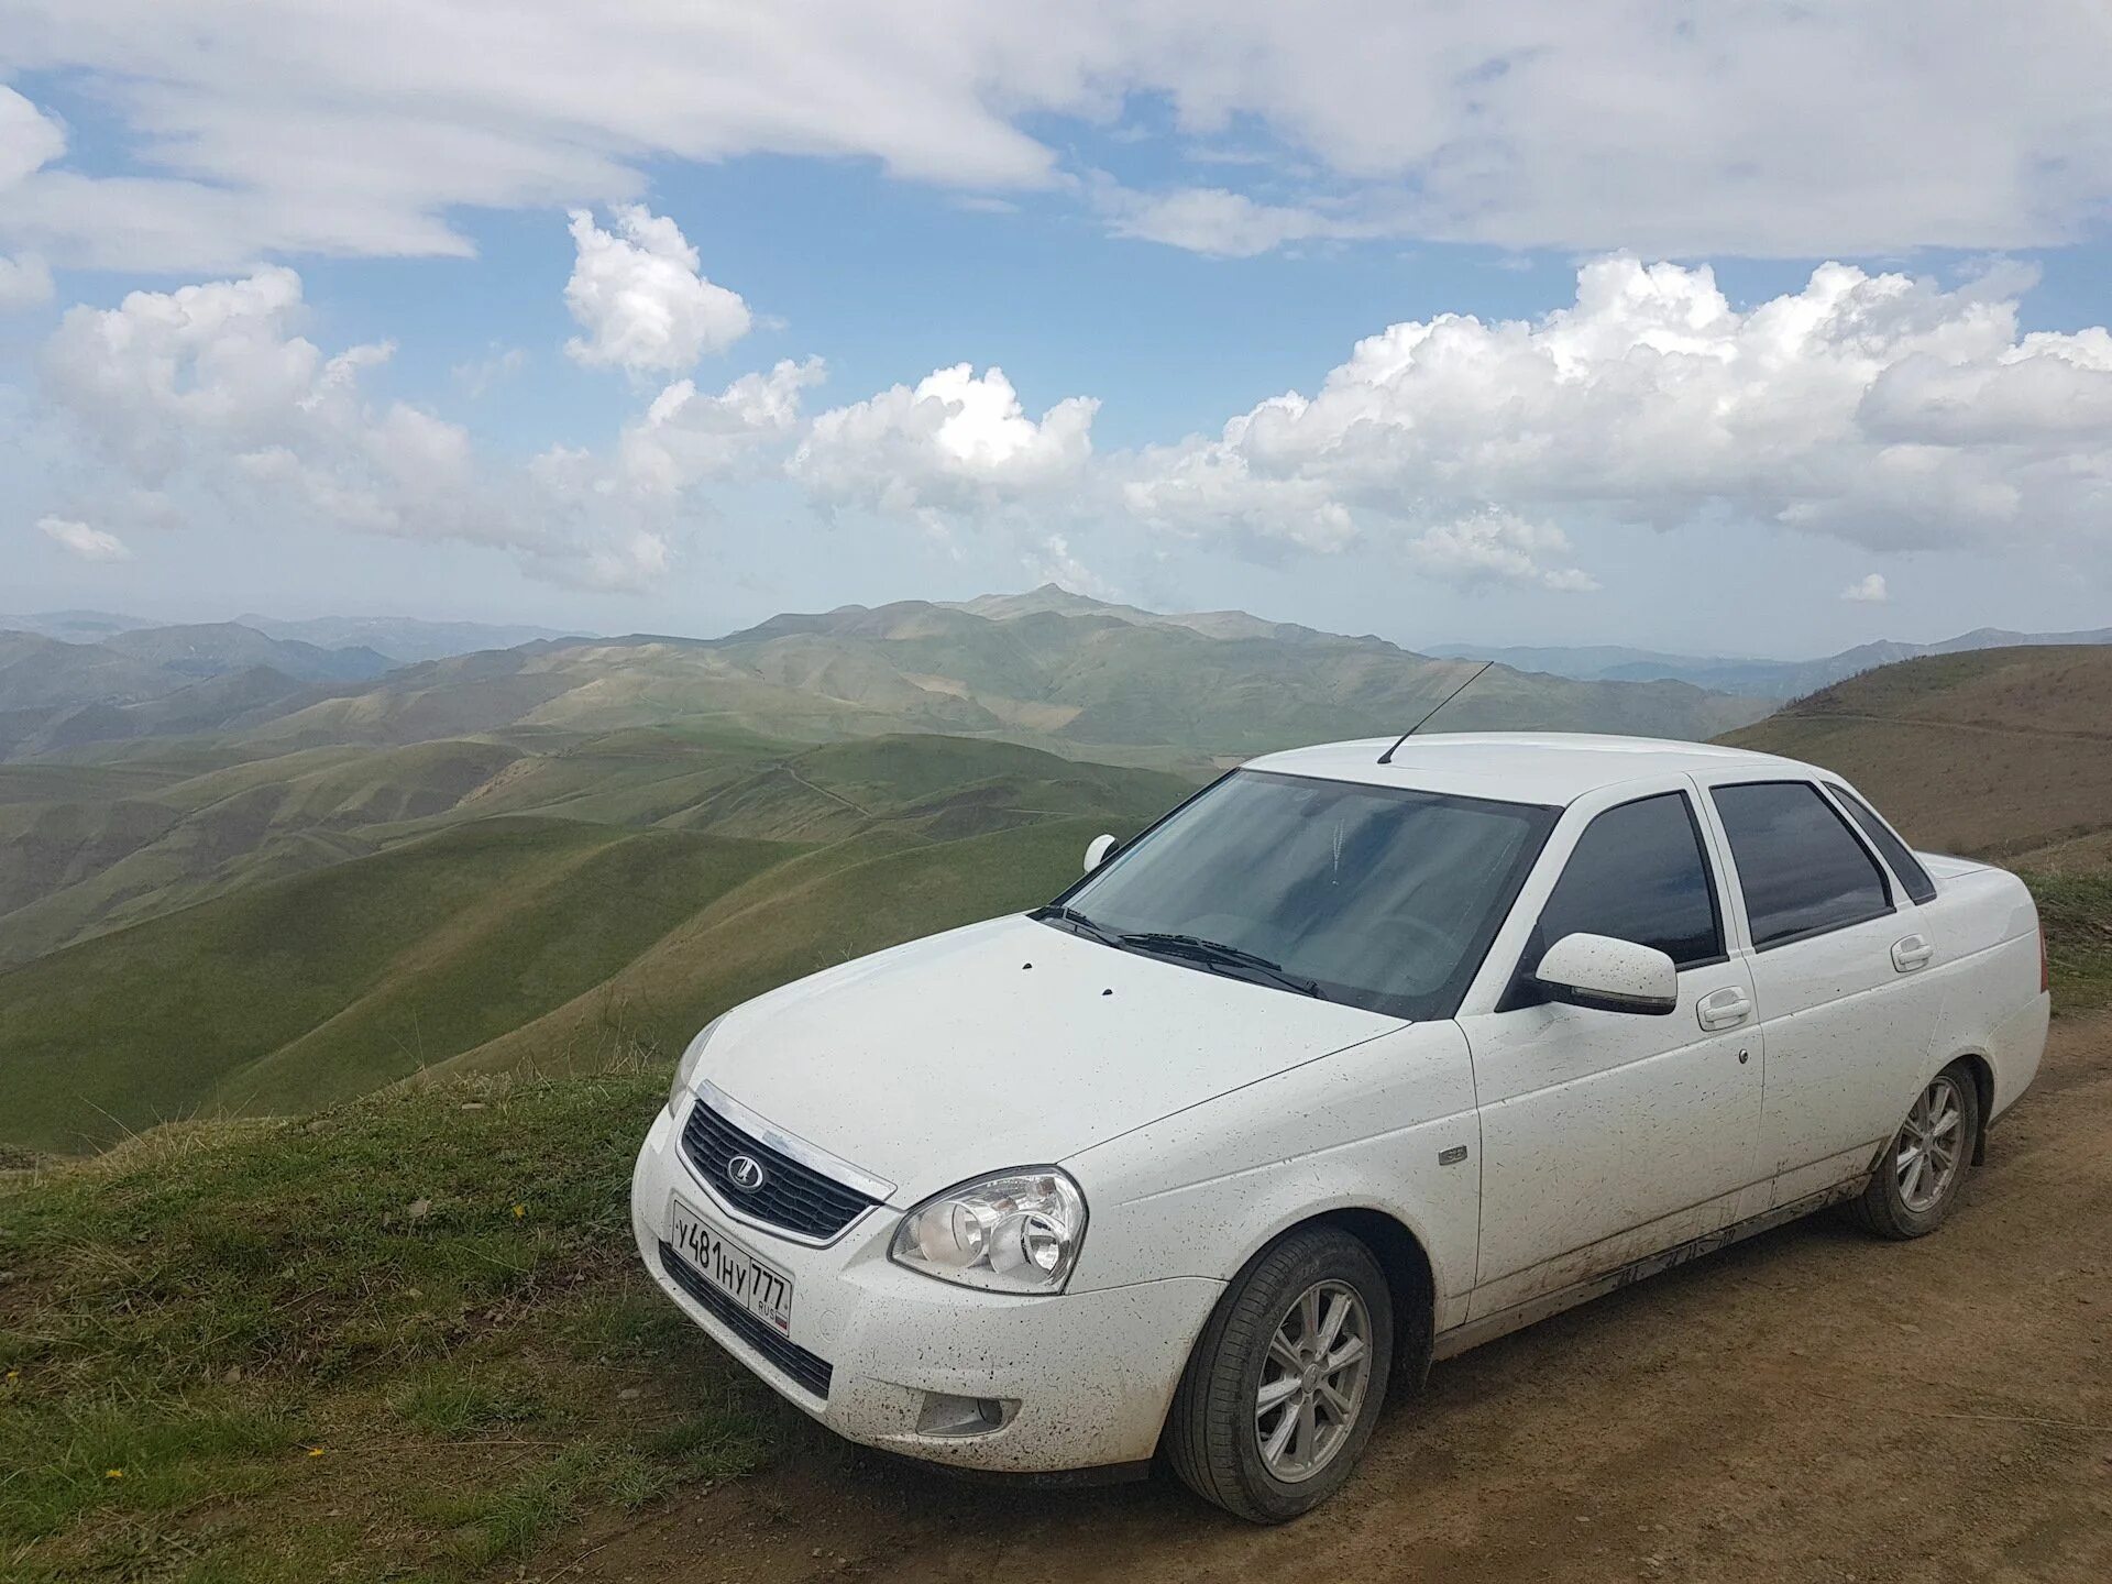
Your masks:
M2063 1012L2112 1005L2112 650L1884 665L1723 737L1854 781L1916 845L2019 870Z

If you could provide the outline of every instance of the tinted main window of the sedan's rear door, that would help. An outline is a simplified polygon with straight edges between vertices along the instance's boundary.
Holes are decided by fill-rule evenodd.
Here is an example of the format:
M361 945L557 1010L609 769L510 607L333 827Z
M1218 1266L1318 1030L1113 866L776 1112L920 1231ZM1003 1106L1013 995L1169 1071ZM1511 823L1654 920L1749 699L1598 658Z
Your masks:
M1890 912L1884 872L1810 781L1753 781L1711 792L1738 862L1755 946Z

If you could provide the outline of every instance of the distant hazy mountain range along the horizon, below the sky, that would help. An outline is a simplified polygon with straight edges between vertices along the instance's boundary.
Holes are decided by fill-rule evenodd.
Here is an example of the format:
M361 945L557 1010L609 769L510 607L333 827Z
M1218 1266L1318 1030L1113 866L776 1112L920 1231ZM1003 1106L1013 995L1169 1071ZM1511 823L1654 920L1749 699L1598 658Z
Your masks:
M1054 585L788 612L724 638L539 638L408 665L374 642L321 648L241 623L93 644L4 634L0 758L199 733L283 752L699 720L800 741L936 731L1193 767L1404 731L1472 674L1373 636L1238 610L1166 617ZM1761 714L1759 701L1683 682L1495 665L1447 722L1709 737Z

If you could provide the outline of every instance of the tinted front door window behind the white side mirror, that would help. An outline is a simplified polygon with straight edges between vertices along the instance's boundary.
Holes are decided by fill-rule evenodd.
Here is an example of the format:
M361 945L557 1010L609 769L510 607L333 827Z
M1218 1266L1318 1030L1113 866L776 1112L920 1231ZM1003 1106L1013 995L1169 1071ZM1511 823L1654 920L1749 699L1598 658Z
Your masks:
M1624 803L1584 828L1540 910L1529 963L1578 931L1656 946L1679 967L1723 955L1700 830L1681 792Z

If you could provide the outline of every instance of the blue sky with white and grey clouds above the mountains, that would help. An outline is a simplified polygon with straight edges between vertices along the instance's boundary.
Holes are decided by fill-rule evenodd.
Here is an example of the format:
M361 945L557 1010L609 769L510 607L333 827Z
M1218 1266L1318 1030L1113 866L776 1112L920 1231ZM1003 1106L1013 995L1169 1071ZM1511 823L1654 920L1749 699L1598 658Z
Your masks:
M2112 623L2078 0L0 0L0 610Z

